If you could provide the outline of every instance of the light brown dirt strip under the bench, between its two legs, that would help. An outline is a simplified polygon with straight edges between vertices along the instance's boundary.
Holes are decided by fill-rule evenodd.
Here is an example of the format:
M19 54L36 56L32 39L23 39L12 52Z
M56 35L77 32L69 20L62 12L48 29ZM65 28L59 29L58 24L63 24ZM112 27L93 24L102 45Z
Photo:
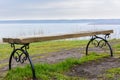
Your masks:
M74 48L70 50L62 50L58 52L47 53L46 55L44 54L41 55L42 57L40 58L34 59L33 62L57 63L65 60L66 58L71 57L80 58L82 56L85 56L85 54L83 54L83 51L84 51L83 48Z

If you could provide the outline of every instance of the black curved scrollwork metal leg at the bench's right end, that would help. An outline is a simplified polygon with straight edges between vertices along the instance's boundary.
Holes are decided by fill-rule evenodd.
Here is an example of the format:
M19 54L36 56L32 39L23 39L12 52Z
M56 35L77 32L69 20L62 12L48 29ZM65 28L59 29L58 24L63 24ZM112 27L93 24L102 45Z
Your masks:
M88 48L90 43L92 43L95 47L99 47L99 48L103 48L104 46L108 46L110 49L110 54L111 56L113 56L113 51L112 48L110 46L110 44L107 41L107 38L109 38L109 34L106 34L104 36L104 38L102 37L98 37L98 36L92 36L92 38L90 39L90 41L88 42L87 46L86 46L86 55L88 55ZM100 40L97 40L100 39Z

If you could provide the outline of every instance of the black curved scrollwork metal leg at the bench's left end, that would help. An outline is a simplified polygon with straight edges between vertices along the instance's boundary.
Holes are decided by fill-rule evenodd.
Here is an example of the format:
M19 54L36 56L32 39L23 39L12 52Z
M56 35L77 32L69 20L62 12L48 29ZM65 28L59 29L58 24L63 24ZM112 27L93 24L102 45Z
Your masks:
M26 60L29 60L32 69L33 80L36 80L35 69L27 52L27 49L29 49L29 44L24 44L20 48L16 48L15 44L11 44L11 47L13 48L13 52L11 53L9 59L9 70L11 69L12 58L21 64L23 64Z

